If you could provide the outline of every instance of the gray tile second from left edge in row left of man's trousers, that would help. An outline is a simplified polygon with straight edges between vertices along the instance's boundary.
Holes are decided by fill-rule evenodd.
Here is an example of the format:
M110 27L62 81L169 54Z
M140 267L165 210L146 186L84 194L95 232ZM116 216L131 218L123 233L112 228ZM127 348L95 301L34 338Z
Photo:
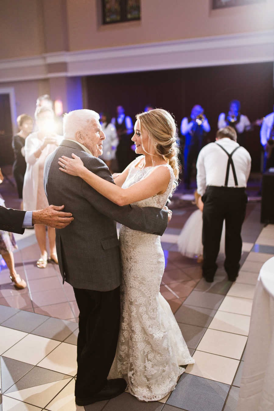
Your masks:
M47 316L41 314L35 314L33 312L20 310L13 317L4 321L1 325L15 330L31 332L40 324L44 323L48 319Z

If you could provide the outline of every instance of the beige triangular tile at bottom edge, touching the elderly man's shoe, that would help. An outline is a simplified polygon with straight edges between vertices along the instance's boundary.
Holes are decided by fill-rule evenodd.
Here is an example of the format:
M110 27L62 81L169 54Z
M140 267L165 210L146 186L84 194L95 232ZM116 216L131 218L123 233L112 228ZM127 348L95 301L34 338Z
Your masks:
M49 411L85 411L84 407L75 404L74 387L75 380L73 378L69 384L53 398L46 409Z

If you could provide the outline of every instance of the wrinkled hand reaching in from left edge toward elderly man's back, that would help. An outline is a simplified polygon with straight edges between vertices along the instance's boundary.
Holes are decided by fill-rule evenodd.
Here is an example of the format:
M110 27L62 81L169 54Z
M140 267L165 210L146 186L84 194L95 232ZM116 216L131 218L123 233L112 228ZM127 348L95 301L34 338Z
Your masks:
M64 205L50 205L43 210L32 212L32 224L44 224L44 226L55 229L63 229L68 226L74 218L71 212L62 212Z

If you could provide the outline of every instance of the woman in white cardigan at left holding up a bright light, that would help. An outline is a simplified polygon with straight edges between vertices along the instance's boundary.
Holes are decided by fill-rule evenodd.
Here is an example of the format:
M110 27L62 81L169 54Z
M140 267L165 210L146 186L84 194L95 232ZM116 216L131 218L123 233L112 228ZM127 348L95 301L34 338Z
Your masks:
M25 160L27 169L23 184L23 210L41 210L48 207L44 190L44 163L46 157L59 145L62 137L54 132L54 113L48 107L37 107L35 119L38 131L31 133L25 141ZM46 227L35 224L35 236L40 248L38 268L46 268L48 253L46 251ZM55 248L55 229L48 227L50 259L58 264Z

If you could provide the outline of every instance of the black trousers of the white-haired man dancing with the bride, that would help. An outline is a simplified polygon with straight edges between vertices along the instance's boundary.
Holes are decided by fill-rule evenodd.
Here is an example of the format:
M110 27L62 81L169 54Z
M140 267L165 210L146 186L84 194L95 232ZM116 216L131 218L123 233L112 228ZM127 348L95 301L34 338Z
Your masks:
M112 291L74 288L80 311L75 396L100 391L113 363L120 327L120 287Z

